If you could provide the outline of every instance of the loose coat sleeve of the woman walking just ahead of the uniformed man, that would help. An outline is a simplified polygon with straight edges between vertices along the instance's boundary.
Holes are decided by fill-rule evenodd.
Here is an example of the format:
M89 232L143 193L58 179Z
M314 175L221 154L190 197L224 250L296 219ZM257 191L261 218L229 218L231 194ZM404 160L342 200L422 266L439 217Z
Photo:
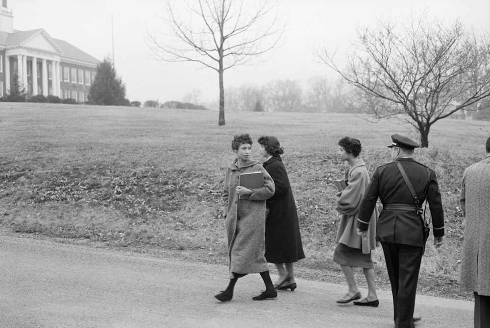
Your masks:
M364 193L365 183L363 174L361 171L354 169L349 174L347 187L337 193L336 210L344 215L355 215L359 211L359 205L364 198Z

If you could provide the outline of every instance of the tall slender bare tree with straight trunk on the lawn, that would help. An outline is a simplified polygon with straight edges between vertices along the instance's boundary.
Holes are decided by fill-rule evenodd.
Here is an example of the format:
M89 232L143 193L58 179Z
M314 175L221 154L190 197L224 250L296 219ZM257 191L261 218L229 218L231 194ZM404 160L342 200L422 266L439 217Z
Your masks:
M164 19L170 34L148 34L151 51L166 62L194 62L219 75L219 125L224 125L225 70L251 65L278 44L284 31L275 5L245 7L241 0L198 0L188 4L190 17L183 20L167 2ZM195 19L197 18L197 19Z

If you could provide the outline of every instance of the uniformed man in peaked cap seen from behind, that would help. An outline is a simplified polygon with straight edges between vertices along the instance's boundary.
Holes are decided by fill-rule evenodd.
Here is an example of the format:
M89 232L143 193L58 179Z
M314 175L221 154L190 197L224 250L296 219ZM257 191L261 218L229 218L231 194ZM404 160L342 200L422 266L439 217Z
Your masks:
M444 214L436 174L412 158L414 149L419 146L407 137L392 135L392 143L388 147L391 148L393 162L379 166L374 172L357 223L358 233L364 236L379 197L383 210L376 228L376 241L383 247L392 285L395 328L414 328L414 321L420 320L413 315L418 272L426 241L420 214L425 200L432 214L436 248L441 246L444 235ZM401 164L412 184L417 204L396 162Z

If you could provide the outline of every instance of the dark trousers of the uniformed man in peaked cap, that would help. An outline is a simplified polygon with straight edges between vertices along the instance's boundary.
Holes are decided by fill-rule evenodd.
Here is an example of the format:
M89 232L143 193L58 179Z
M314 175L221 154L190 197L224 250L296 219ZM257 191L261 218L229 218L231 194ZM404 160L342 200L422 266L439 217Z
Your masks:
M392 285L395 327L414 328L413 314L422 247L382 242Z

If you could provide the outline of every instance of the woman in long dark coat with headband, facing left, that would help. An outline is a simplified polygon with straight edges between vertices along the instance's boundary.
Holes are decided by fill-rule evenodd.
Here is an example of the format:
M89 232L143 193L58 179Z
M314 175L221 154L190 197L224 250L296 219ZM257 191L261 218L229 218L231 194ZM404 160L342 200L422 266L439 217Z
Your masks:
M294 291L296 282L293 263L305 258L305 255L293 191L281 159L284 150L279 146L277 138L272 136L261 137L258 142L261 146L260 154L266 159L263 166L275 186L274 195L266 202L269 210L266 219L266 259L274 263L279 272L275 287Z

